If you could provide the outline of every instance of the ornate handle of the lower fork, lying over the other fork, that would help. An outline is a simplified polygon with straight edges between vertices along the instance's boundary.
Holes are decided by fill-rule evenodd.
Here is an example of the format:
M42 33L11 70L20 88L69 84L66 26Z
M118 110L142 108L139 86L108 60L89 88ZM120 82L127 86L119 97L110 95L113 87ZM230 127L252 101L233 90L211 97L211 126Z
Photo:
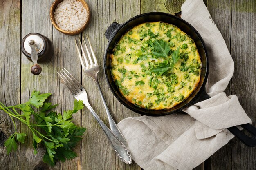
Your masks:
M84 103L85 104L85 103ZM132 163L132 156L126 148L126 146L112 133L112 131L103 123L103 121L99 118L97 113L93 110L90 104L85 104L85 106L90 110L92 115L95 117L105 134L107 135L111 145L115 149L117 156L126 164Z

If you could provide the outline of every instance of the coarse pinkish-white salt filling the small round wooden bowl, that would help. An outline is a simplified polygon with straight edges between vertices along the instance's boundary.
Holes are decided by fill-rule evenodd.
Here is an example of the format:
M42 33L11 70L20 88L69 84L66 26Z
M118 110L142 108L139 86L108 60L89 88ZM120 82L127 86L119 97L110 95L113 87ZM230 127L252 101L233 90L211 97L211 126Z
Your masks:
M57 26L65 31L76 31L88 20L88 11L78 0L63 0L54 11Z

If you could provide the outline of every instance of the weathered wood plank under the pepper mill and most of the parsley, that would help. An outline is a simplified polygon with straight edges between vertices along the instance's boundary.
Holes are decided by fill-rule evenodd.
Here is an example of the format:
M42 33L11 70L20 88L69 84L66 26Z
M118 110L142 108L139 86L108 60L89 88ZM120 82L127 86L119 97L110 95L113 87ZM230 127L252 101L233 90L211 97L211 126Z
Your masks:
M79 59L76 57L74 47L74 38L79 36L68 36L58 32L51 24L49 19L49 10L53 0L48 1L35 1L35 0L22 0L22 38L28 33L36 32L47 36L54 44L54 57L44 64L42 73L38 76L30 73L32 65L27 58L22 55L21 61L21 102L27 101L31 91L35 88L42 93L52 93L50 102L59 104L57 111L61 113L63 110L72 109L74 97L65 85L60 81L57 71L62 67L71 71L72 75L77 79L80 78L81 70L79 66ZM74 122L78 125L81 124L81 113L74 115ZM39 147L38 154L33 154L31 144L31 133L26 126L21 126L22 131L28 133L27 142L21 145L21 161L20 169L48 170L65 169L76 170L77 160L81 160L81 145L79 144L74 151L78 157L72 161L65 163L58 162L56 166L49 167L41 162L45 150Z

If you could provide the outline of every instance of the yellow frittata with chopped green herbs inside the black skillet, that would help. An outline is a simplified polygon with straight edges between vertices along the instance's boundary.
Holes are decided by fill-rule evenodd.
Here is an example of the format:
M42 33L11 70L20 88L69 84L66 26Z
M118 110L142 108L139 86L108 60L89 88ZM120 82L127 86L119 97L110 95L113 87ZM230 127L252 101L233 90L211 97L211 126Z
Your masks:
M200 81L194 41L177 26L146 22L127 31L113 49L112 77L138 107L168 109L184 101Z

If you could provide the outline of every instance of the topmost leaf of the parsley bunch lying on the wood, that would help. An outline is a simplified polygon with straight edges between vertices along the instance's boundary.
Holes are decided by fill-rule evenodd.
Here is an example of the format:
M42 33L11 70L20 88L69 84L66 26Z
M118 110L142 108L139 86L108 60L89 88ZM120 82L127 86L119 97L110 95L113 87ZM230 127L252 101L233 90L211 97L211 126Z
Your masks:
M45 99L47 99L50 95L51 95L51 93L40 94L39 91L33 90L31 97L30 97L29 101L27 102L27 104L31 104L31 105L35 106L36 108L39 108L40 106L43 106L43 102L45 102Z

